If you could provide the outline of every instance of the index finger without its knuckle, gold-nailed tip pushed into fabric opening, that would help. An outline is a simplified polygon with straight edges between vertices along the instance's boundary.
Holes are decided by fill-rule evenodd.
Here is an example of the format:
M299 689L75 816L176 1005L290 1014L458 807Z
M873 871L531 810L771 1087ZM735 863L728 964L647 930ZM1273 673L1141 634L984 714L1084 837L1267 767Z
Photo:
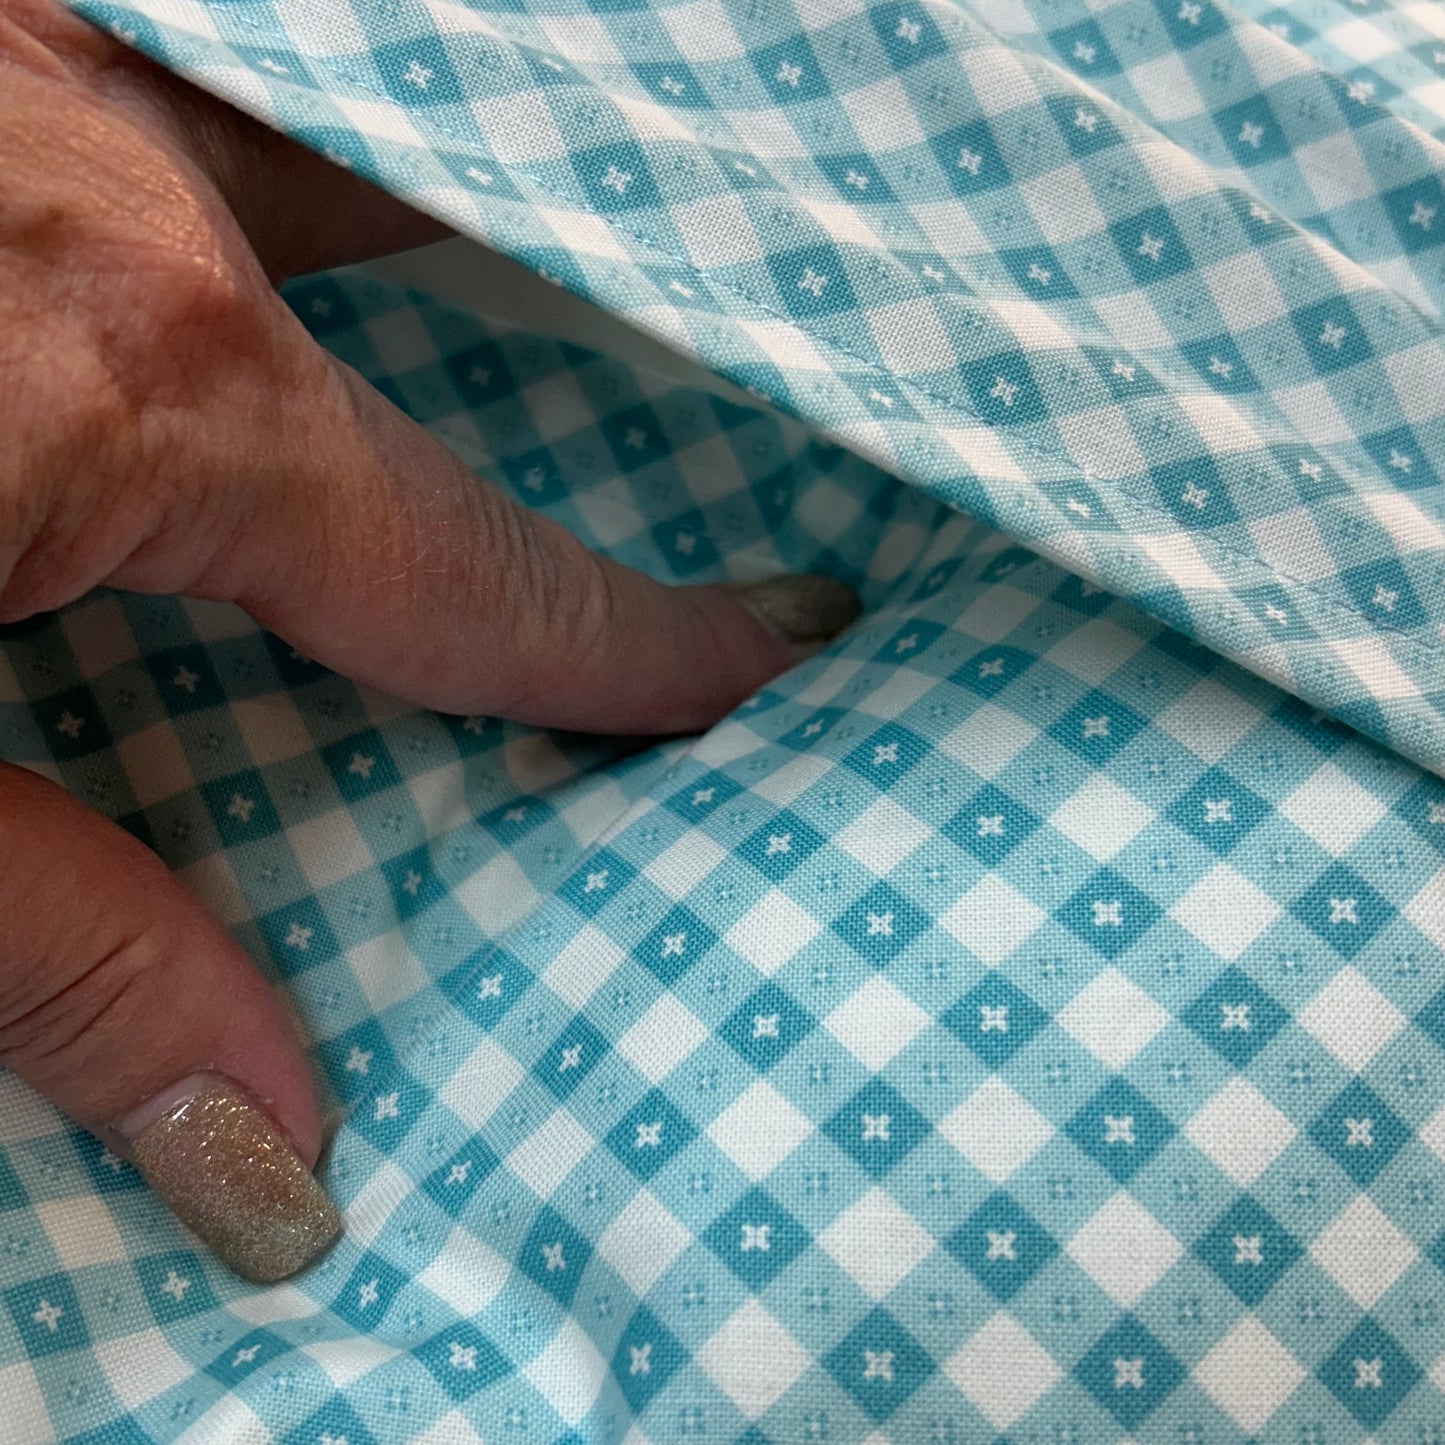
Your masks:
M552 727L689 731L857 614L829 578L662 587L480 483L347 368L293 394L285 475L237 491L246 510L210 585L394 695Z

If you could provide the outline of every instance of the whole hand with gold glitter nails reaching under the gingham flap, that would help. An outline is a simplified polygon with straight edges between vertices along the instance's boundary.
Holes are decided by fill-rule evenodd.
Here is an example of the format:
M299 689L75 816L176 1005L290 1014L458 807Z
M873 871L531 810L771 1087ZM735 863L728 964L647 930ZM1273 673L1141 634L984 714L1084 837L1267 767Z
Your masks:
M273 289L439 234L53 0L0 0L0 621L98 584L182 592L425 707L673 733L851 620L827 579L663 588L592 556ZM0 1064L249 1277L334 1237L262 975L159 860L7 766Z

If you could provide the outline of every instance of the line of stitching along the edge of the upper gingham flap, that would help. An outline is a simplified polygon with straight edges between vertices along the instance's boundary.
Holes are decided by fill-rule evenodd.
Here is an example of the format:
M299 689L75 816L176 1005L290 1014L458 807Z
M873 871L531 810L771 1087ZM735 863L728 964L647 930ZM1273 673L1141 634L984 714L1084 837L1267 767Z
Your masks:
M257 23L256 20L247 19L246 16L238 16L233 10L230 10L228 7L223 7L220 4L220 0L202 0L202 4L208 10L215 10L215 12L224 13L225 17L230 19L231 22L243 25L247 29L254 30L257 35L267 36L273 43L277 45L277 48L285 49L285 51L296 55L298 58L301 58L302 61L305 61L308 65L311 65L314 68L318 68L321 71L329 72L331 75L337 77L337 79L341 79L341 81L344 81L348 85L354 85L363 94L371 95L371 97L374 97L377 100L381 100L387 105L397 107L403 114L407 116L407 118L412 118L410 113L406 110L406 107L400 105L386 91L377 90L374 85L368 85L366 81L361 81L361 79L357 79L357 78L348 75L334 61L329 61L329 59L325 59L322 56L312 55L311 52L302 51L283 32L267 29L266 26ZM202 38L202 43L204 43L204 38ZM220 43L224 45L225 43L224 39L221 39ZM464 134L452 130L451 127L448 127L442 121L435 120L434 117L423 117L423 123L426 126L429 126L432 130L435 130L436 133L439 133L439 134L442 134L442 136L445 136L445 137L457 142L461 146L471 147L471 146L475 144L470 137L467 137L467 136L464 136ZM488 156L487 158L487 163L488 165L497 165L497 166L500 166L501 169L504 169L504 171L507 171L510 173L522 176L525 181L527 181L532 185L535 185L539 191L545 191L548 195L552 195L556 199L564 201L566 205L574 207L579 212L582 212L585 215L591 215L595 220L600 220L600 221L605 223L613 230L621 231L624 236L631 237L634 241L637 241L637 244L647 247L649 250L655 251L657 256L662 256L662 257L670 260L676 266L682 266L683 269L686 269L688 272L691 272L692 275L695 275L701 280L704 280L708 286L715 288L718 290L728 292L730 295L738 298L740 301L747 302L750 306L754 306L757 311L763 312L763 315L770 316L775 321L779 321L779 322L782 322L786 327L790 327L793 331L799 332L803 337L808 337L811 341L819 342L819 344L822 344L825 347L831 347L832 350L840 351L844 355L847 355L847 357L853 358L854 361L860 363L861 366L867 367L871 373L874 373L877 376L887 377L900 390L913 392L913 393L916 393L919 396L926 397L928 400L933 402L935 405L942 406L945 410L957 412L958 415L967 418L971 422L978 423L985 431L988 431L988 432L991 432L994 435L998 435L1000 439L1003 439L1003 435L1004 435L1003 429L998 428L996 423L987 420L985 418L980 416L977 412L974 412L968 406L967 402L962 402L958 397L949 396L946 393L932 392L929 387L923 386L919 381L913 381L913 380L910 380L907 377L900 377L897 373L890 371L881 363L874 361L870 357L863 355L858 351L854 351L847 342L840 341L840 340L837 340L834 337L829 337L827 332L811 329L803 322L795 319L793 316L786 315L785 312L777 311L776 308L770 306L767 302L760 301L759 298L750 295L743 288L740 288L740 286L737 286L737 285L734 285L731 282L724 282L724 280L720 280L720 279L711 276L707 270L704 270L701 266L694 264L686 257L675 256L662 243L656 241L655 238L652 238L650 236L646 236L642 231L634 231L631 227L624 225L621 221L618 221L617 218L608 215L607 212L598 211L585 198L579 199L577 197L571 197L565 191L559 191L556 186L549 185L548 182L545 182L545 181L539 179L538 176L532 175L529 171L523 171L520 166L516 166L512 162L503 160L503 159L500 159L497 156ZM1032 452L1036 457L1056 458L1056 460L1064 461L1066 465L1075 465L1077 467L1077 464L1074 464L1072 460L1068 458L1066 455L1064 455L1061 452L1049 451L1046 448L1042 448L1036 442L1027 442L1027 441L1023 441L1022 438L1016 438L1016 445L1022 447L1025 451L1029 451L1029 452ZM1091 478L1088 475L1088 473L1084 471L1084 468L1077 468L1077 470L1078 470L1078 474L1079 474L1079 480L1087 481L1087 483L1092 483L1094 481L1094 478ZM1035 483L1035 486L1040 487L1039 483ZM1042 487L1040 487L1040 490L1042 490ZM1157 506L1155 503L1147 501L1143 497L1136 496L1129 488L1129 486L1126 483L1123 483L1123 481L1114 481L1114 483L1111 483L1110 484L1110 496L1111 497L1117 497L1123 503L1123 506L1124 506L1126 510L1133 509L1133 510L1136 510L1139 513L1143 513L1144 516L1150 516L1152 514L1152 516L1165 519L1170 525L1170 530L1178 530L1178 520L1168 510L1165 510L1163 507L1160 507L1160 506ZM1048 500L1049 500L1051 504L1056 506L1056 503L1053 503L1052 497L1048 497ZM1066 535L1077 535L1077 533L1069 532ZM1438 657L1445 656L1445 646L1438 644L1438 643L1432 643L1432 642L1429 642L1429 639L1425 639L1425 637L1416 637L1416 636L1405 631L1399 626L1380 621L1380 620L1371 617L1363 608L1358 608L1358 607L1353 605L1351 603L1345 601L1344 598L1341 598L1341 597L1338 597L1338 595L1335 595L1332 592L1324 591L1318 584L1308 582L1303 578L1292 577L1289 572L1282 572L1282 571L1270 566L1270 564L1267 564L1263 558L1257 556L1253 552L1244 552L1244 551L1241 551L1241 549L1238 549L1235 546L1231 546L1227 542L1220 540L1218 538L1209 536L1208 533L1194 535L1194 533L1188 533L1186 532L1183 535L1189 538L1191 543L1194 543L1195 546L1199 546L1201 549L1209 548L1209 549L1212 549L1221 558L1233 558L1234 561L1241 562L1246 566L1251 566L1251 568L1257 569L1266 578L1276 579L1276 581L1280 581L1283 584L1289 584L1289 587L1298 588L1299 591L1308 594L1309 597L1314 597L1325 608L1329 608L1332 611L1341 613L1345 617L1354 617L1358 621L1363 621L1368 627L1368 630L1370 630L1371 634L1386 633L1386 634L1392 634L1394 637L1399 637L1400 643L1406 649L1409 649L1412 653L1415 653L1418 657L1420 657L1422 660L1433 662ZM1126 533L1126 536L1127 536L1127 533ZM1040 543L1046 545L1049 540L1051 539L1043 538L1043 539L1040 539ZM1290 642L1292 642L1290 639L1277 639L1277 640L1272 639L1270 644L1272 646L1286 647L1286 646L1290 646ZM1325 646L1331 644L1329 639L1319 639L1319 637L1315 637L1315 639L1299 639L1299 642L1315 642L1315 643L1324 643ZM1247 650L1243 649L1243 647L1241 647L1241 652L1247 653ZM1394 699L1394 698L1374 698L1373 701L1376 701L1376 705L1384 708L1387 704L1396 702L1399 699Z

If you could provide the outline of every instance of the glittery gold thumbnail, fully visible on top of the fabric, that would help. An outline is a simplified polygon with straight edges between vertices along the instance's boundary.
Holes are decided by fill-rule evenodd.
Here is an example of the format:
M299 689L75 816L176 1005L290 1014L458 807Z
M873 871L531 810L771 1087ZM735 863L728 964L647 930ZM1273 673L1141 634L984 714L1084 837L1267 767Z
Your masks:
M220 1074L182 1079L116 1131L171 1212L253 1283L305 1269L341 1233L337 1207L276 1121Z

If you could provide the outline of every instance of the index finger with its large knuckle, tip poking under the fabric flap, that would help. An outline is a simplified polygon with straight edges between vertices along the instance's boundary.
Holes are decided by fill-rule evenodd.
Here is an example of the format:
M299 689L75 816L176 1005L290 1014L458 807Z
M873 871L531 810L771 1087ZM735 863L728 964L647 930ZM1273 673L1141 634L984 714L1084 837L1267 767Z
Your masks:
M10 371L20 475L40 486L20 488L14 540L0 538L14 556L0 553L0 617L104 581L240 601L416 702L672 733L851 616L837 584L665 590L591 556L322 353L194 165L87 97L56 181L53 146L26 147L22 121L64 88L26 95L14 210L61 220L19 231ZM55 368L25 364L36 345Z

